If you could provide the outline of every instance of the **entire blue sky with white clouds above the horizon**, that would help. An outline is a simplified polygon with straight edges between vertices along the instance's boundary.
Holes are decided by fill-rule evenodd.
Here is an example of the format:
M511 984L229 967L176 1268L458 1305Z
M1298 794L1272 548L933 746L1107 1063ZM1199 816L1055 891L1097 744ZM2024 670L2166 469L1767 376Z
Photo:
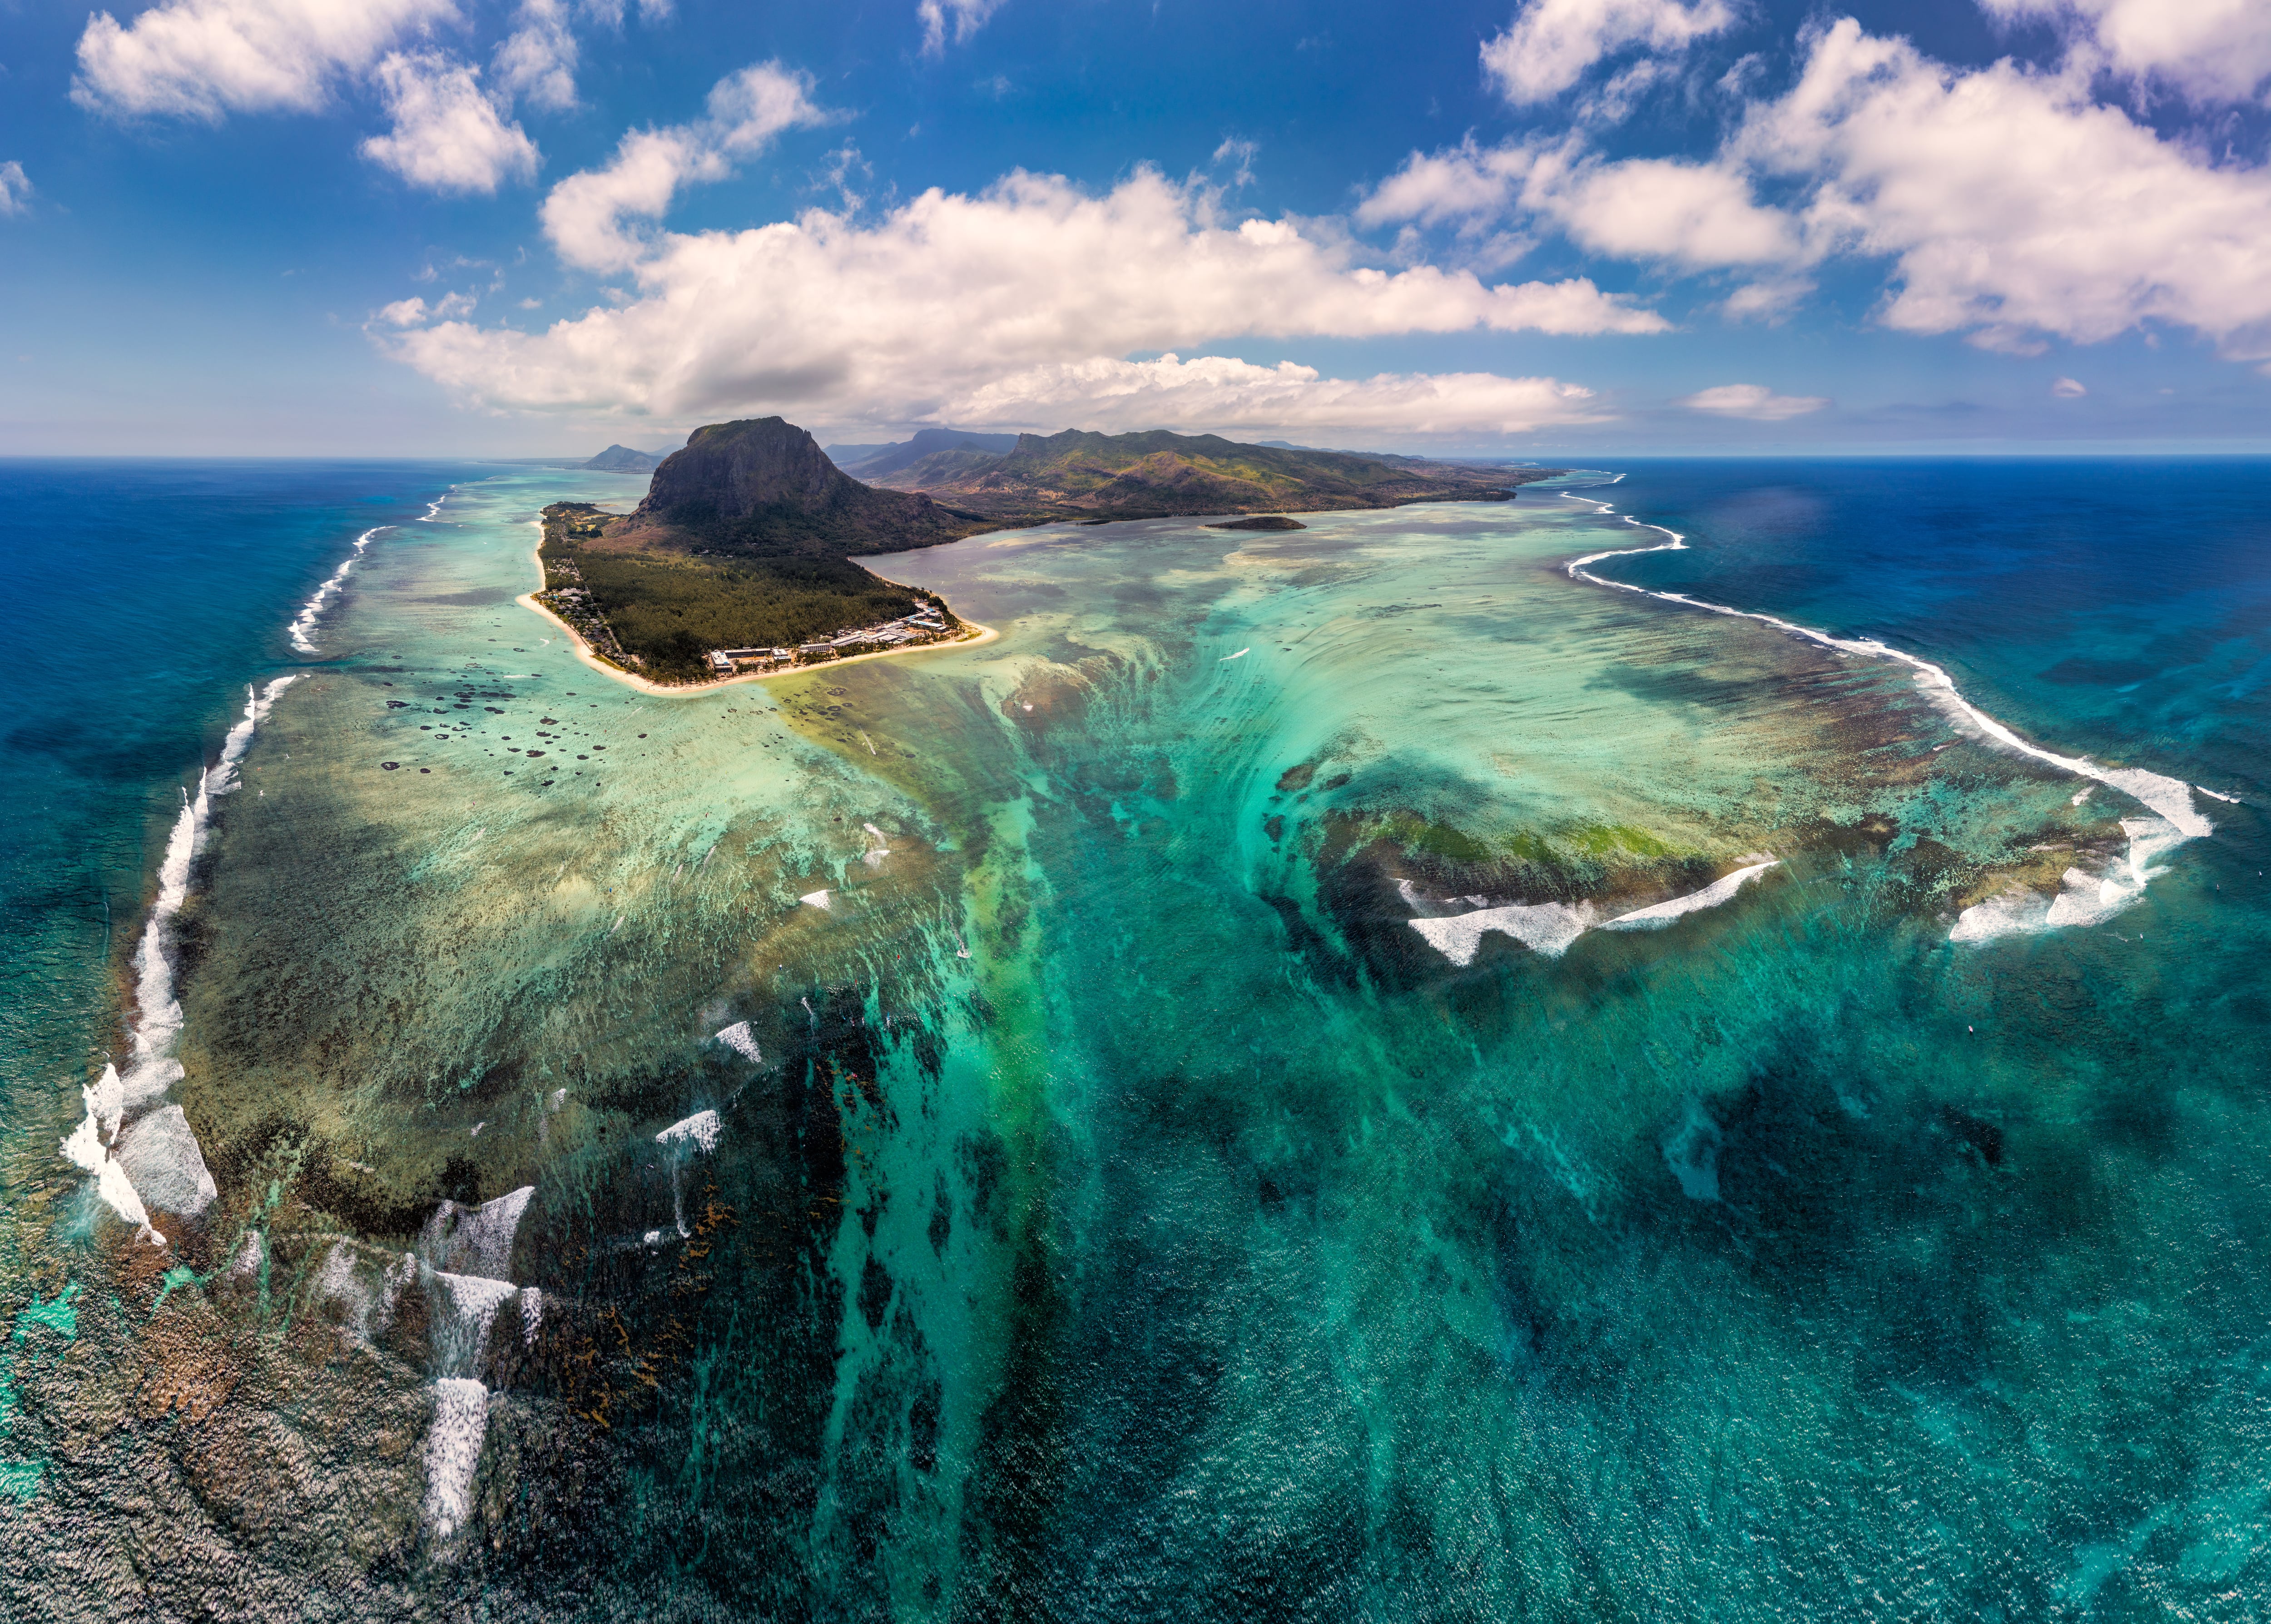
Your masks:
M0 18L0 452L2271 450L2253 0Z

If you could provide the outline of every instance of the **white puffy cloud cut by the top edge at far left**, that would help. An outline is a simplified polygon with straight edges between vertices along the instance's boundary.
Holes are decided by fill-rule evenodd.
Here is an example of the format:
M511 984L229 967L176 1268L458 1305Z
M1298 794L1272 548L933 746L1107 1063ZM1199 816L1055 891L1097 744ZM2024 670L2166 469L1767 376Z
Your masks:
M70 100L89 111L220 118L325 102L454 0L166 0L132 25L86 18Z

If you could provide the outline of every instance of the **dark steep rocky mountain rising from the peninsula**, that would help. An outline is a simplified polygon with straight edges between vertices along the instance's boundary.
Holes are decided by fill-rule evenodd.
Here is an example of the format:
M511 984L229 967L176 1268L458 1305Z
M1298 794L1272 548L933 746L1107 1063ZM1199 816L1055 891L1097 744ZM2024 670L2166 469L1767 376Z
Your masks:
M749 552L899 552L954 541L990 522L913 491L874 491L781 418L695 429L663 459L636 527L668 527Z

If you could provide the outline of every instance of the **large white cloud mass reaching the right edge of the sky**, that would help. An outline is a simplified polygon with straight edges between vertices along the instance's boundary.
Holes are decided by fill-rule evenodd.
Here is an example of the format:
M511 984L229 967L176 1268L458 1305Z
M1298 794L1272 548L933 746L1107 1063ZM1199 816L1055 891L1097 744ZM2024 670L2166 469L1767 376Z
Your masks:
M1415 152L1356 218L1467 236L1549 220L1601 254L1749 273L1724 304L1737 318L1780 313L1805 273L1858 257L1889 266L1878 320L1901 332L2037 354L2171 323L2271 357L2271 170L2094 100L2087 55L1951 68L1853 18L1815 30L1796 86L1751 102L1708 159L1469 139Z

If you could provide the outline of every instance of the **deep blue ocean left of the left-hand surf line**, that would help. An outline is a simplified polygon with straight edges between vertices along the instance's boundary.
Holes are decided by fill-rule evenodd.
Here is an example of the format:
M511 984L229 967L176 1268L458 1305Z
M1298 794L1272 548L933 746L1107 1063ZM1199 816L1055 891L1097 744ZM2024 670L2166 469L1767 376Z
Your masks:
M107 968L184 788L298 663L286 627L372 525L466 463L0 461L16 697L0 722L0 1117L111 1043ZM30 1093L25 1093L30 1090ZM61 1090L68 1099L75 1083Z

